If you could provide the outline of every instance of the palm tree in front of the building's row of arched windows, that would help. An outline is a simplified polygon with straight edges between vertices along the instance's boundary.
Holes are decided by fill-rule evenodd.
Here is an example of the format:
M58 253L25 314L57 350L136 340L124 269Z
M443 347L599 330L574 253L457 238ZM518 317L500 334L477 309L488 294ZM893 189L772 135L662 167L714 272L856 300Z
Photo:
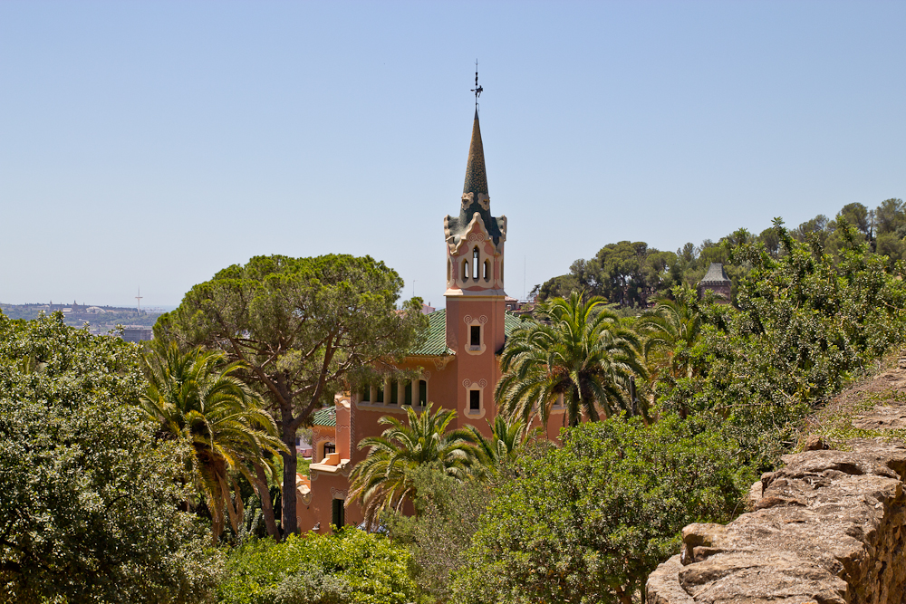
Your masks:
M419 465L438 465L445 475L462 481L476 464L472 433L447 430L456 411L432 412L432 407L429 404L420 414L408 408L408 426L396 417L381 417L378 421L389 426L381 436L361 439L360 449L371 448L352 470L351 496L361 502L367 526L373 526L383 510L400 511L411 499L415 485L410 473Z

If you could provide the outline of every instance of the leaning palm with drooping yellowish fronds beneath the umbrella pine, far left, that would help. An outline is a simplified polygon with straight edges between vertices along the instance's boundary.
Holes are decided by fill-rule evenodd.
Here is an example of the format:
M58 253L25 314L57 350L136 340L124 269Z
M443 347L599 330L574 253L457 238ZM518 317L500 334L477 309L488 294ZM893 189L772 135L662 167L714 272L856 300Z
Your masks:
M233 470L255 487L268 532L276 537L266 479L266 470L273 472L273 467L265 452L276 454L286 447L276 436L274 418L262 408L261 397L233 375L244 365L226 364L220 352L182 353L175 342L155 346L143 361L149 385L139 405L159 423L160 436L190 447L188 473L207 500L214 542L223 532L225 512L234 531L242 522L242 497L230 477Z

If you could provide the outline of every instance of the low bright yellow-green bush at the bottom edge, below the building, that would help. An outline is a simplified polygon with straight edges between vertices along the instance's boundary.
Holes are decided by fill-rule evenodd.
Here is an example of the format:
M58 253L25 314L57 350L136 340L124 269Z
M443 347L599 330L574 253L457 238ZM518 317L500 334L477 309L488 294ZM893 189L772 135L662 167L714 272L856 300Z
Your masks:
M246 543L218 590L224 604L405 604L416 593L409 551L350 528Z

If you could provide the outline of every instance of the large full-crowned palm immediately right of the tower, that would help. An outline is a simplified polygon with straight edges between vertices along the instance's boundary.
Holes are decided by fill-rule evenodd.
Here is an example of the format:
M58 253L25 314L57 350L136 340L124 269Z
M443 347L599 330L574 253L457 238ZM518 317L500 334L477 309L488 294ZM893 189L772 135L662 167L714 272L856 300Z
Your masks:
M621 409L632 411L626 396L637 360L638 340L604 306L604 299L554 298L538 306L541 322L516 330L500 360L503 376L494 398L509 417L526 422L535 414L547 426L551 407L564 399L564 425L578 426L583 415L597 421Z

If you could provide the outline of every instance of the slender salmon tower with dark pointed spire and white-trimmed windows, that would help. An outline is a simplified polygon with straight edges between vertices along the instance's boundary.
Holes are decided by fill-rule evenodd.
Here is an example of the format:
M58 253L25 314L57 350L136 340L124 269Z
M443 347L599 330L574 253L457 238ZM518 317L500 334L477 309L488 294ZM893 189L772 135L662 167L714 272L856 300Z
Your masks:
M496 352L504 345L506 216L491 216L478 112L472 123L459 215L444 218L447 240L447 345L457 355L460 423L493 417L499 378ZM471 420L471 421L469 421Z

